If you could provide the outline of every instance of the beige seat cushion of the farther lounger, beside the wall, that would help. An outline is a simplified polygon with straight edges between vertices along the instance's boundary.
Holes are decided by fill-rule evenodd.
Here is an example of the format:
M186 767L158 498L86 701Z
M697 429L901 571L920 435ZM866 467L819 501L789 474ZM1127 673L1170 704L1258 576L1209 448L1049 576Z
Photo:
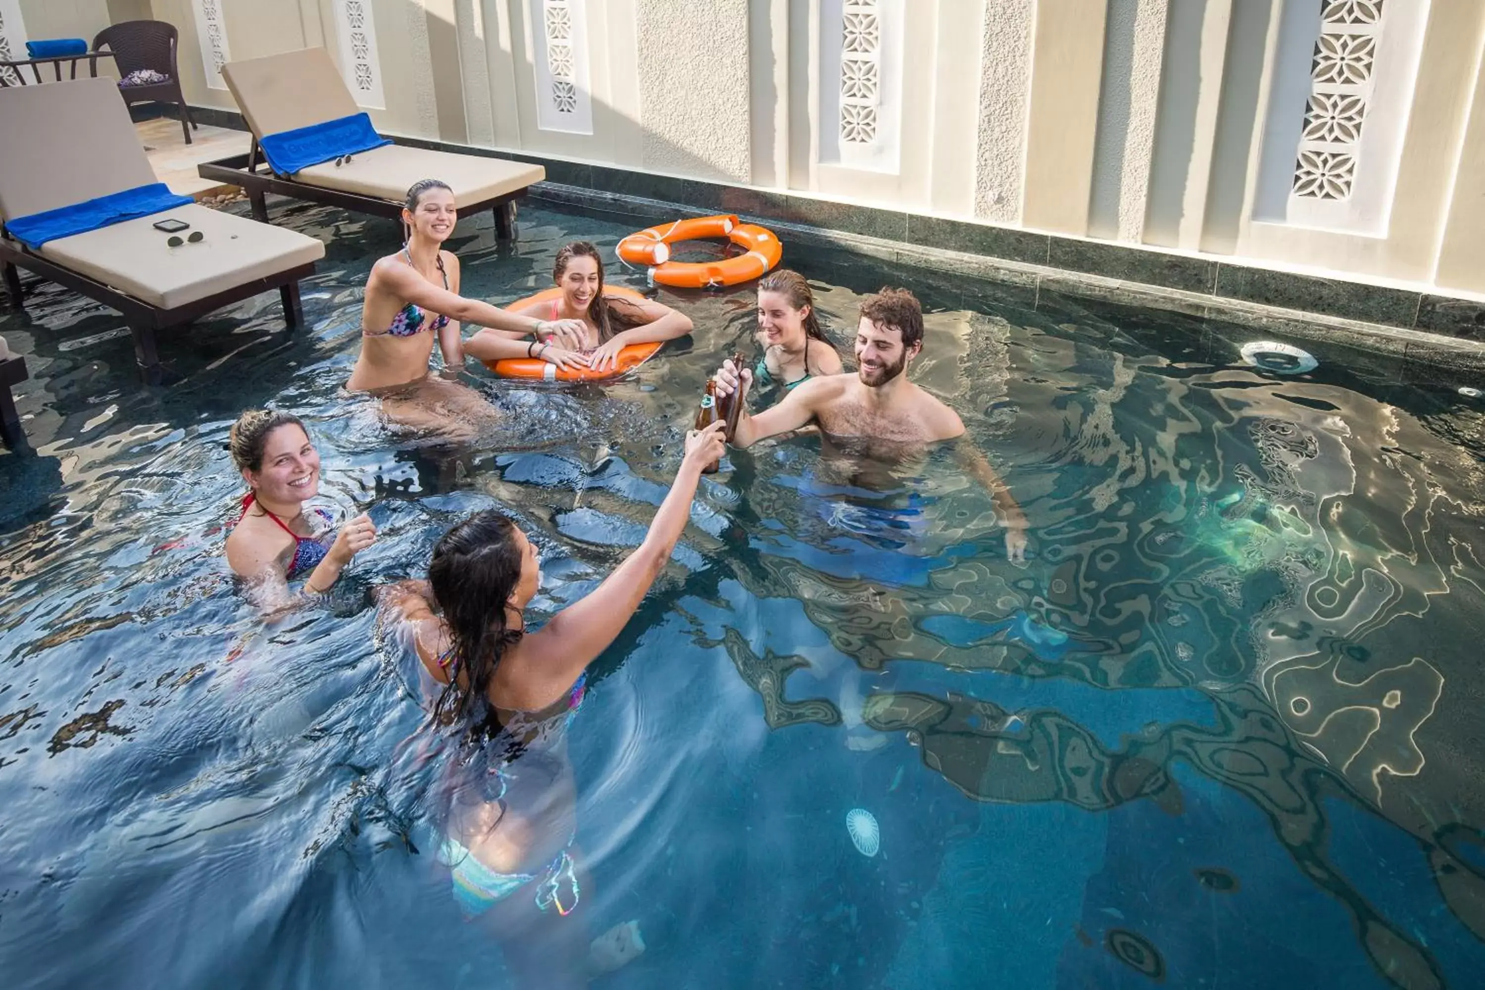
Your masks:
M349 165L312 165L294 172L306 186L401 202L413 183L437 178L454 191L454 206L463 209L506 193L515 193L546 178L541 165L487 159L477 154L428 151L388 144L352 156Z

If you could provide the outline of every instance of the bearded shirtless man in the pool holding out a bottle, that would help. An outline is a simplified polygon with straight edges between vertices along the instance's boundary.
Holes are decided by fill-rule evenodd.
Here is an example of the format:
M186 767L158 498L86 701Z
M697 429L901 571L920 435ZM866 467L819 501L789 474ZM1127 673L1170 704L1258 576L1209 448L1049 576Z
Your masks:
M907 380L907 365L922 346L924 315L912 292L882 289L869 295L855 331L857 373L802 381L778 405L757 416L744 410L732 445L751 447L814 423L827 450L900 465L921 457L930 444L962 436L959 414ZM717 395L732 395L740 374L744 383L751 383L751 371L725 361L716 376ZM1005 525L1007 558L1026 560L1026 515L1005 482L980 451L958 444L955 453L995 502Z

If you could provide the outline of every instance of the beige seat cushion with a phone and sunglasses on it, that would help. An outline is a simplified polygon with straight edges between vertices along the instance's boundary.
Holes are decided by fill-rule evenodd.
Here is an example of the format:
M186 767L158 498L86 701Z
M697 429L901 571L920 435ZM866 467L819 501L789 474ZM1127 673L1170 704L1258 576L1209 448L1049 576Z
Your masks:
M114 94L110 98L119 99ZM153 227L165 218L190 224L180 232L181 239L196 230L206 237L168 248L169 235ZM296 230L192 205L49 240L40 254L141 303L175 309L318 261L325 245Z

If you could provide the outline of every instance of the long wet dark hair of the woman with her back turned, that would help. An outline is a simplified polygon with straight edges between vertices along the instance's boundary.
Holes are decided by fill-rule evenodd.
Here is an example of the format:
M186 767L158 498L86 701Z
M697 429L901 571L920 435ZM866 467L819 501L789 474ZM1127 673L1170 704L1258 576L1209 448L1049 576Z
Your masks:
M434 705L435 720L469 727L487 723L490 678L500 655L521 638L521 629L505 626L505 603L520 579L515 524L493 509L471 515L434 546L428 583L453 640L448 686Z

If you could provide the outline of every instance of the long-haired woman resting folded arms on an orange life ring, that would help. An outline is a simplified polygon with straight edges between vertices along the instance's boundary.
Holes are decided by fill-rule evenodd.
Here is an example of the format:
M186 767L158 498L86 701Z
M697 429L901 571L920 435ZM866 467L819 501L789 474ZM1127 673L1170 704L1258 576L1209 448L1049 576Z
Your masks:
M588 355L587 365L594 371L616 368L619 352L630 344L674 340L691 332L691 318L662 303L604 292L603 258L587 240L573 240L557 252L552 281L561 298L532 303L515 312L552 322L579 322L582 340L575 346ZM502 340L503 334L481 330L465 343L465 352L480 361L497 361L505 355L490 347Z

